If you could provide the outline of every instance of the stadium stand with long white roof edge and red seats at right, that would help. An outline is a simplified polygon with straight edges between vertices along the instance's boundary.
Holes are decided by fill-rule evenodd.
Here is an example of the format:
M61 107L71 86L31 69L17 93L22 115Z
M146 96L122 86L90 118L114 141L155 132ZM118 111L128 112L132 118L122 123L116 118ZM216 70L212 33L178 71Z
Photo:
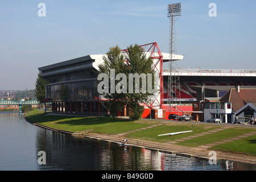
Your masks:
M204 121L203 104L205 102L218 102L229 90L236 89L238 86L241 89L254 91L256 88L255 73L255 70L242 69L177 69L175 74L180 77L181 100L181 106L177 106L177 110L182 111L183 114L199 115L197 120ZM164 69L163 75L163 108L168 110L169 106L166 101L168 100L169 70ZM194 107L195 105L198 107ZM193 119L196 120L195 117Z

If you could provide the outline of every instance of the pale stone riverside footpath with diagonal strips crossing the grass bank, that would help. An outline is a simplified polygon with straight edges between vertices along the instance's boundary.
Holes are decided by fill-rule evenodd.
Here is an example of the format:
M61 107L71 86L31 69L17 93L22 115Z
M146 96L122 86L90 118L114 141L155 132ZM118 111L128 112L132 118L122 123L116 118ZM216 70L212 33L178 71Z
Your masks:
M255 131L251 131L250 133L237 135L236 137L222 139L217 142L208 143L208 144L204 144L204 145L197 146L197 147L185 147L185 146L180 146L180 145L176 144L179 142L183 142L184 140L201 137L204 135L216 133L218 131L227 130L227 129L230 129L231 127L236 127L232 124L222 123L221 124L222 127L220 129L214 129L214 130L210 130L210 131L203 132L200 134L189 135L187 137L172 140L170 142L165 142L165 143L152 142L152 141L141 140L141 139L133 139L133 138L128 138L126 136L127 134L134 133L134 132L141 131L141 130L147 130L152 127L168 125L169 122L177 122L177 121L167 121L167 120L160 120L160 119L155 119L155 121L161 121L161 123L158 123L156 125L151 125L148 127L143 127L141 129L137 129L137 130L127 131L126 133L115 134L115 135L98 134L98 133L84 133L84 135L87 138L105 140L107 142L114 142L114 143L123 143L123 140L127 139L128 140L127 144L129 144L130 146L141 147L141 148L146 148L148 150L167 152L169 154L176 154L176 155L181 155L181 156L187 156L189 158L199 158L199 159L205 159L205 160L209 160L212 157L211 153L209 153L212 151L209 149L212 146L217 146L218 144L233 142L234 140L239 140L241 138L246 138L246 137L256 135L256 127L255 126L252 126L252 125L251 126L242 126L242 127L255 127ZM204 122L192 122L192 123L198 123L199 125L206 124ZM209 125L209 123L207 123L207 124ZM212 125L217 125L217 123L212 123ZM241 126L241 125L239 125L239 126ZM232 153L222 152L222 151L215 151L215 152L216 152L217 161L218 160L230 160L230 161L234 161L234 162L256 164L256 156L235 154L233 152Z

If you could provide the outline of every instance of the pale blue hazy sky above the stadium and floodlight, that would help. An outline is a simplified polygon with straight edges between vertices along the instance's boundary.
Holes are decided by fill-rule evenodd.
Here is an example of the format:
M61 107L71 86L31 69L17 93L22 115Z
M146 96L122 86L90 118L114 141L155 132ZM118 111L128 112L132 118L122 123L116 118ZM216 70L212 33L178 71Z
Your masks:
M254 0L1 0L0 90L35 89L39 67L117 45L156 42L168 53L167 6L177 2L177 53L185 55L179 68L255 69Z

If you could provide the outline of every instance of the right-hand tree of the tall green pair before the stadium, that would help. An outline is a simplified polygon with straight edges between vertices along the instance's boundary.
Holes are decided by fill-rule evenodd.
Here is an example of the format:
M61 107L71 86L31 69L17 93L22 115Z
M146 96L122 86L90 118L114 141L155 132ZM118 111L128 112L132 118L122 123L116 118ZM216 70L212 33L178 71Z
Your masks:
M127 47L127 54L125 56L126 63L128 65L127 72L138 74L139 82L136 83L136 78L133 78L135 84L129 81L129 89L133 88L134 92L127 92L126 97L129 98L129 110L130 117L133 120L137 120L141 118L142 113L144 111L144 107L141 104L147 104L150 101L150 97L154 94L154 92L149 92L152 90L154 85L154 75L155 71L152 71L151 65L152 60L150 57L146 57L146 53L144 53L143 49L135 44L134 46ZM151 77L148 77L151 75ZM141 81L140 81L141 78ZM146 81L147 78L147 81ZM129 79L131 79L129 77ZM144 80L143 80L144 79ZM148 84L151 82L151 85ZM151 88L149 88L149 86ZM139 90L138 90L139 88ZM146 89L147 88L147 89ZM137 93L136 93L137 90Z

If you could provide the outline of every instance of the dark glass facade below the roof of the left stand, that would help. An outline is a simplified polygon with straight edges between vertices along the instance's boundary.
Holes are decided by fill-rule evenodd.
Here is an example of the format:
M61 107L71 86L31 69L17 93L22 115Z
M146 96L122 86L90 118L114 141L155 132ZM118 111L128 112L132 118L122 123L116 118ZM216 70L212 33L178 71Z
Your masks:
M46 85L46 97L52 102L53 113L104 115L108 111L99 101L97 78L57 82Z

